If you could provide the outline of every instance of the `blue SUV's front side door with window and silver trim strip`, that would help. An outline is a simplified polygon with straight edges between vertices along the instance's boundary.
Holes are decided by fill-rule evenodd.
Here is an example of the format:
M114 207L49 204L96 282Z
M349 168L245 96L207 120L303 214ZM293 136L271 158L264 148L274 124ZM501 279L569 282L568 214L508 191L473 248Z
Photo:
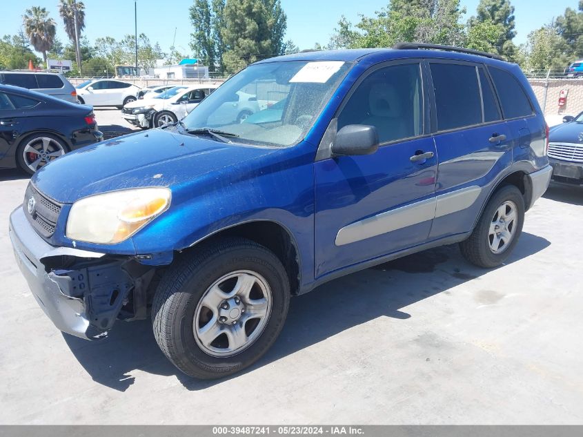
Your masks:
M373 67L337 113L337 130L375 126L380 146L315 162L316 277L428 239L437 156L422 77L421 61Z

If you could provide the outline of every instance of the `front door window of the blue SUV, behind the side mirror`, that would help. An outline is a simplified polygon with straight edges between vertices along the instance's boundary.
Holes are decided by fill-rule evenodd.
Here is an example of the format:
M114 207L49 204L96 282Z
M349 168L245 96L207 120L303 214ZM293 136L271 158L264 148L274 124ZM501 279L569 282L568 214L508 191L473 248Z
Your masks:
M375 126L381 143L423 132L423 90L419 64L379 68L370 73L338 115L348 124Z

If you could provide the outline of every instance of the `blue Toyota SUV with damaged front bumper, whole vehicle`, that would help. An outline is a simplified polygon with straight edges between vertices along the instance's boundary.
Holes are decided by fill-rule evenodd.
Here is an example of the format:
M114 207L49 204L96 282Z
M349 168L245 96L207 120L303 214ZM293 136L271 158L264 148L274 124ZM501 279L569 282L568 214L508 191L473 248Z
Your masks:
M241 122L241 93L269 116ZM150 313L170 361L219 378L333 278L453 243L502 264L549 184L547 138L520 68L495 55L302 52L248 66L181 122L44 166L10 237L58 329L97 340Z

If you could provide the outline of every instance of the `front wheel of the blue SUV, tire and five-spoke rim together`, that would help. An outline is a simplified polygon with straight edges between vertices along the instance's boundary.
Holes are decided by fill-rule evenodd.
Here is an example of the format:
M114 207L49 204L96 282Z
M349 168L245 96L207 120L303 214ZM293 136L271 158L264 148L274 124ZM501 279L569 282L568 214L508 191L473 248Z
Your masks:
M289 300L286 270L264 246L239 237L203 243L162 278L152 304L154 336L188 376L222 378L266 353Z

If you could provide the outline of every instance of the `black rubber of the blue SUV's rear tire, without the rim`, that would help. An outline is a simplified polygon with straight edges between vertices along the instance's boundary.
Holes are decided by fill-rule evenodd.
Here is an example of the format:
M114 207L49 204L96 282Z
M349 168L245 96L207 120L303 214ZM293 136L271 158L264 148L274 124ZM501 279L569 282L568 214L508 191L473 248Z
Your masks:
M490 238L490 226L497 209L507 201L513 202L517 207L516 223L514 225L516 228L510 243L506 245L501 253L495 253L491 249L491 244L489 244L488 240ZM523 224L524 198L522 197L522 193L513 185L503 186L488 200L486 208L484 208L480 220L478 220L470 237L460 243L462 255L464 255L466 260L479 267L488 269L500 266L516 246L520 233L522 232Z

